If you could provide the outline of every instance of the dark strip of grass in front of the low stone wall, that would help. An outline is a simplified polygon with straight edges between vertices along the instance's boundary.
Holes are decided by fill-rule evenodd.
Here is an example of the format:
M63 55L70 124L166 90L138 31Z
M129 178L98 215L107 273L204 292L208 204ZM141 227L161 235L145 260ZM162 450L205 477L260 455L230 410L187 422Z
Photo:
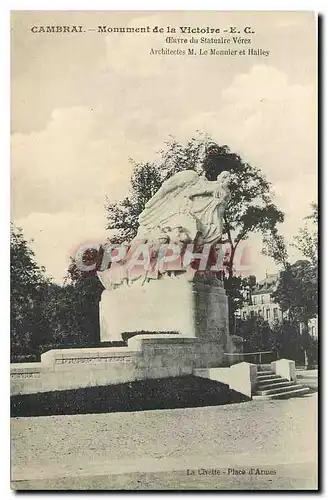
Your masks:
M12 417L217 406L248 401L229 386L192 375L11 397Z

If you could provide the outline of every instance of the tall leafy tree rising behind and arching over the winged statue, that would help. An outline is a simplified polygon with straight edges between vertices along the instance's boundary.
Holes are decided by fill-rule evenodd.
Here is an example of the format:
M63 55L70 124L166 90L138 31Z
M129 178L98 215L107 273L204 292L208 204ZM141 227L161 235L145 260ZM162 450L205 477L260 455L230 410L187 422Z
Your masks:
M145 203L170 176L183 170L194 170L214 180L222 171L230 171L231 200L224 216L223 241L229 247L226 286L232 328L233 300L237 294L234 289L237 282L233 280L237 247L250 233L276 234L277 224L284 220L284 214L272 201L270 183L258 168L244 162L227 145L220 146L205 134L191 138L185 146L172 139L160 152L157 163L133 165L128 196L121 202L107 201L107 229L114 232L116 241L120 242L129 241L136 235L138 216Z

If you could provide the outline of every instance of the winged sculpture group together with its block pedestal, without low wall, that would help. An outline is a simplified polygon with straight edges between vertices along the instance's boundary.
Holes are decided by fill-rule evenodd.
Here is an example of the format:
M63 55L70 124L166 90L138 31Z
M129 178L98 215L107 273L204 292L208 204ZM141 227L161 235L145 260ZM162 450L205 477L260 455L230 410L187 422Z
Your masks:
M209 181L191 170L163 183L131 242L98 272L101 341L123 333L171 333L229 344L228 303L218 267L230 173Z

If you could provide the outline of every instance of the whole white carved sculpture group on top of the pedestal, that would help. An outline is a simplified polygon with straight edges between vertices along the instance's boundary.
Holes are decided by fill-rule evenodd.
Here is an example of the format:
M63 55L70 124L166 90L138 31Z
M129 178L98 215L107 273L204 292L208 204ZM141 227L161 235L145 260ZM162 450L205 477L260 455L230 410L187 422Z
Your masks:
M146 278L157 279L166 271L182 268L185 244L199 247L219 242L230 196L229 179L229 172L222 172L216 181L208 181L192 170L185 170L165 181L140 214L138 233L128 245L125 259L113 263L110 269L97 272L104 287L110 290L123 283L131 285L139 280L143 284ZM129 267L129 259L140 243L147 243L150 249L151 261L146 272L141 265ZM157 249L162 243L179 245L181 254L175 262L166 263L159 269Z

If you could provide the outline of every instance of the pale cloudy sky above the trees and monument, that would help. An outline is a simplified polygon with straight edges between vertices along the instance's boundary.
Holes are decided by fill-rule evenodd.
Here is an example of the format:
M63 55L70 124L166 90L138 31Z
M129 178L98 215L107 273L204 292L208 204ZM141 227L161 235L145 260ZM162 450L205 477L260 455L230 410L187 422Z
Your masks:
M183 47L158 34L31 32L41 25L252 26L252 48L270 54L154 56ZM201 130L272 182L291 242L317 199L316 79L311 13L15 12L11 219L61 283L74 249L108 236L106 197L127 194L129 158L151 162L170 136ZM274 272L259 236L250 245L250 273Z

